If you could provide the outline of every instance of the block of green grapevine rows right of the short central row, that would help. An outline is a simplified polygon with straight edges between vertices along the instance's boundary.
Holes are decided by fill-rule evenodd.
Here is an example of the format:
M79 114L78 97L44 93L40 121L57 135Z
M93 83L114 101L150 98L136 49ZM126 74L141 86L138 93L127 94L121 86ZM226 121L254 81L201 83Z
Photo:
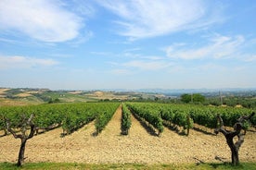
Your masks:
M247 108L172 103L128 103L128 106L134 114L145 118L155 128L161 124L162 119L187 129L187 134L194 123L206 128L216 128L218 114L222 116L227 127L233 127L237 118L252 112ZM256 116L252 117L251 122L256 125Z

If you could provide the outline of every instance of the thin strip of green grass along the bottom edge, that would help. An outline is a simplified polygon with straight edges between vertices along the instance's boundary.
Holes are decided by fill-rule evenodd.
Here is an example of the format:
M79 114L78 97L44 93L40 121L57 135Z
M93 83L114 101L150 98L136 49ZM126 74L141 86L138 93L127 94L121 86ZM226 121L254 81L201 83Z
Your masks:
M36 170L53 170L53 169L217 169L217 170L233 170L233 169L245 169L255 170L256 163L242 163L238 166L231 164L76 164L76 163L25 163L22 167L17 167L16 164L0 163L0 169L5 170L19 170L19 169L36 169Z

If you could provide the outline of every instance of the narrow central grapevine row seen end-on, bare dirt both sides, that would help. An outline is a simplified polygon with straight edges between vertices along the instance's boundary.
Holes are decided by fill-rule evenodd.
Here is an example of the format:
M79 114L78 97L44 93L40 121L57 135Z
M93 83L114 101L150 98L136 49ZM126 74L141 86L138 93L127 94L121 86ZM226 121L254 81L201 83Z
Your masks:
M128 135L129 129L131 128L131 112L125 103L122 103L122 134Z

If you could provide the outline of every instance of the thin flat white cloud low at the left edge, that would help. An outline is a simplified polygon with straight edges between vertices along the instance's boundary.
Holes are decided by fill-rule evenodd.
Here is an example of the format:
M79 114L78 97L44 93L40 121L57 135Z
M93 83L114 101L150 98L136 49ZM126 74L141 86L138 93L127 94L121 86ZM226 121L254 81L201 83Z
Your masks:
M26 56L0 56L0 69L51 67L58 65L53 59L40 59Z

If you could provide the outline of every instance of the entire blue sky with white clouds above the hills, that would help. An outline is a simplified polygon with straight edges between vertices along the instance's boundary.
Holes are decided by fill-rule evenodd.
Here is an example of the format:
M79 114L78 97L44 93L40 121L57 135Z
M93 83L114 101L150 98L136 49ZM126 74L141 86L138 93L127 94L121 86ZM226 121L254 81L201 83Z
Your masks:
M0 87L256 87L254 0L0 0Z

